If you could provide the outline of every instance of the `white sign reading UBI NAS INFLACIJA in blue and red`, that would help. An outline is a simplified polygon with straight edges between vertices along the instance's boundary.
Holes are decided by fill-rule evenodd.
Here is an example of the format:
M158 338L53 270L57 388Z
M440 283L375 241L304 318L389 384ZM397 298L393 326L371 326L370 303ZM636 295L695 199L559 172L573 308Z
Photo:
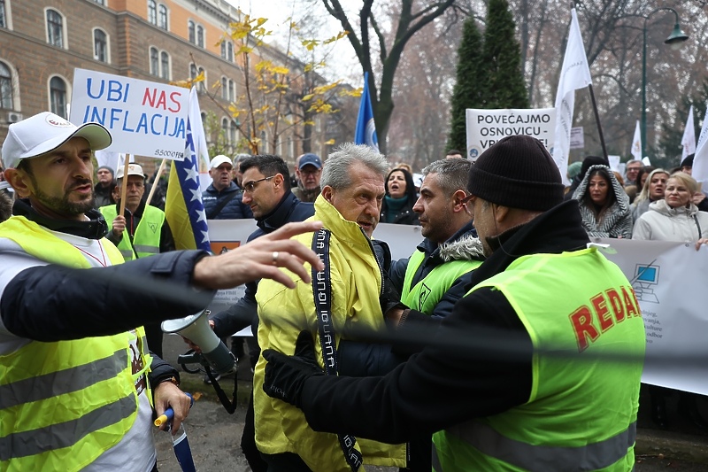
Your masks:
M69 120L111 132L105 151L157 159L184 159L189 89L86 69L73 73Z

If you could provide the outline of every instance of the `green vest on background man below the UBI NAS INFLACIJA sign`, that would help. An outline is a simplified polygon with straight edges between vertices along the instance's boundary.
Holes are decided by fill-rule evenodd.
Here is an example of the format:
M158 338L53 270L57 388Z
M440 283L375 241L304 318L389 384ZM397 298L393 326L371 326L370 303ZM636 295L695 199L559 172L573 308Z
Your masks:
M107 205L99 208L103 213L108 228L112 228L113 220L116 219L118 211L116 205ZM135 252L138 258L145 258L159 254L160 251L160 233L162 225L165 223L165 213L159 208L151 205L145 205L142 212L142 218L135 228L133 242L130 237L124 233L118 244L118 249L123 255L123 259L135 259ZM134 252L135 251L135 252Z

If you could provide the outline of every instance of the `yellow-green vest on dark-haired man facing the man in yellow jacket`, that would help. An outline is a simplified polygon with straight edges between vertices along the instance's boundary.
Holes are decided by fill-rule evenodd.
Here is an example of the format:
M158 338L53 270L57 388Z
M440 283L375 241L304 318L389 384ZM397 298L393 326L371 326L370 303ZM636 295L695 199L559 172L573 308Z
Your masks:
M412 286L413 278L425 259L425 253L418 249L408 259L408 266L405 267L404 286L401 291L401 302L413 310L426 314L435 312L435 306L461 275L465 275L481 265L480 260L450 260L434 267Z

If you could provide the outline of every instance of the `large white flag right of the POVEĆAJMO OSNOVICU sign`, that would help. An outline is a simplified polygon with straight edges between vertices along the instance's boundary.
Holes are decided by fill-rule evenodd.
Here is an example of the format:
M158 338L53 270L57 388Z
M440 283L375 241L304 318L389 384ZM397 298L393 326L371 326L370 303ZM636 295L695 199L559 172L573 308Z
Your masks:
M573 127L573 108L575 106L575 90L592 85L588 58L582 44L581 28L578 25L578 15L571 10L570 31L566 56L563 58L563 68L560 71L558 92L556 94L556 139L551 154L563 178L568 181L568 153L570 151L570 130Z

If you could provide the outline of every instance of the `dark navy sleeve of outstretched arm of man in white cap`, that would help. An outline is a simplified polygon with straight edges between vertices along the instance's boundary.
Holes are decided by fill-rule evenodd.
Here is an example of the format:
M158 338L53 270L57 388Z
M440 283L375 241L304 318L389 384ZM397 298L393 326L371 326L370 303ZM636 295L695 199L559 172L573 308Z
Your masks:
M196 262L206 255L172 251L112 267L27 268L0 298L4 326L16 336L50 342L108 336L197 313L213 297L211 290L190 286Z

